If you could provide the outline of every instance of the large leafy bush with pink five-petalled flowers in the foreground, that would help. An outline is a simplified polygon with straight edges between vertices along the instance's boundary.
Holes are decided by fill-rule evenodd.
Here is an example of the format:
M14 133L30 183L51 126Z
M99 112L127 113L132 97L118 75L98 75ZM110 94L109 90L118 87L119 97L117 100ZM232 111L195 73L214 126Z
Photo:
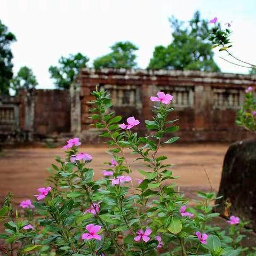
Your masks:
M157 102L153 118L145 122L151 135L139 137L134 132L138 119L130 117L121 124L122 117L109 111L109 94L92 94L92 119L102 131L100 136L107 138L111 155L102 179L93 179L93 156L78 151L77 138L69 140L63 147L67 157L56 158L50 186L38 188L37 201L22 201L15 217L11 197L3 203L2 255L247 255L239 244L244 225L239 218L230 217L228 231L211 226L219 215L213 212L214 193L198 192L201 200L191 207L175 189L173 166L158 152L179 139L164 139L178 130L169 119L174 110L171 95L159 92L151 97ZM145 164L138 170L143 180L133 181L125 150Z

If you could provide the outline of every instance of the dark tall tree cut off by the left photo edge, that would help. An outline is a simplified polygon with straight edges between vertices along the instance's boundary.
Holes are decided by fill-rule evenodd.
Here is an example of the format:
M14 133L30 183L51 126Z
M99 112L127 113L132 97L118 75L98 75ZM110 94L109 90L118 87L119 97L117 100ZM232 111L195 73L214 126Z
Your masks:
M9 93L10 80L13 76L13 55L10 45L15 41L14 34L8 31L8 28L0 20L0 94Z

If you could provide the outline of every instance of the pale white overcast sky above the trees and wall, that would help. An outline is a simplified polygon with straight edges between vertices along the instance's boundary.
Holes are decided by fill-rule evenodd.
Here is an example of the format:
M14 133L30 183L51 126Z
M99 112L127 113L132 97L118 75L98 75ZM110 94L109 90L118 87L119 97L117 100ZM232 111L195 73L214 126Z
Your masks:
M233 21L232 52L256 62L256 0L0 0L0 19L17 36L14 72L32 68L46 89L54 87L48 69L62 55L82 52L92 63L117 41L136 44L138 66L146 68L154 47L171 42L168 17L186 21L196 10L205 19ZM223 72L248 73L218 56Z

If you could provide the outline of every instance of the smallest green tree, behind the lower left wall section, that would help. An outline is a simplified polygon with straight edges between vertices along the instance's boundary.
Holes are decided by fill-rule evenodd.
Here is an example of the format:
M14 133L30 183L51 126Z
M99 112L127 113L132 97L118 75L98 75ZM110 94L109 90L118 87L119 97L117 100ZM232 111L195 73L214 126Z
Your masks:
M18 92L20 89L34 89L38 85L32 69L21 67L17 75L12 79L11 88Z

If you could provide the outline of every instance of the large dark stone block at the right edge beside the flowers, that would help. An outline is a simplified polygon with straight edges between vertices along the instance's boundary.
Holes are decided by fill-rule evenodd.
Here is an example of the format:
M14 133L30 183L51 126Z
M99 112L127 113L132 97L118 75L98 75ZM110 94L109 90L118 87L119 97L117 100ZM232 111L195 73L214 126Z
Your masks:
M226 215L226 202L231 203L230 215L256 230L256 139L237 141L229 147L222 170L218 211Z

